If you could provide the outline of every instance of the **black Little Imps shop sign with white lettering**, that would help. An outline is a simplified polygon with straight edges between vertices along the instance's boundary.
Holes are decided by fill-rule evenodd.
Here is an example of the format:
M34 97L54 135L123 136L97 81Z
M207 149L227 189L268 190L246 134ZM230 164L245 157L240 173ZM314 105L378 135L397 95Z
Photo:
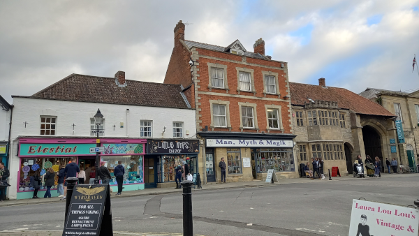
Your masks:
M147 140L147 154L190 154L199 152L199 140Z

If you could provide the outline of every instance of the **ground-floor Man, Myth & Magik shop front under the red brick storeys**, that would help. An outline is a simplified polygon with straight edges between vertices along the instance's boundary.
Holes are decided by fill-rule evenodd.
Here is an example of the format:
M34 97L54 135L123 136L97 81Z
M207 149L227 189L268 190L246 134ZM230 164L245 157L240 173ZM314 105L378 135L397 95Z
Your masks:
M206 182L221 182L219 162L226 163L227 182L265 180L267 171L298 177L293 152L295 135L200 132L205 138Z

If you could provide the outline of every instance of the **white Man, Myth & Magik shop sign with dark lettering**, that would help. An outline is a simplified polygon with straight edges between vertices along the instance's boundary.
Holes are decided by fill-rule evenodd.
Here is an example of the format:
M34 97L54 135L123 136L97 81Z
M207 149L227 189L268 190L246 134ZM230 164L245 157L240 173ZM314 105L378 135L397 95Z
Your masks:
M293 140L207 139L207 147L294 147Z

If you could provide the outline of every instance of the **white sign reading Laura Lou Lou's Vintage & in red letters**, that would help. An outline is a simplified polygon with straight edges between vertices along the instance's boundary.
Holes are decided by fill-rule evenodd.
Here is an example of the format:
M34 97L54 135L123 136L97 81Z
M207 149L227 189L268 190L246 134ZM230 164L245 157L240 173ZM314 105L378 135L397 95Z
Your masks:
M349 236L417 236L418 228L418 209L353 200Z

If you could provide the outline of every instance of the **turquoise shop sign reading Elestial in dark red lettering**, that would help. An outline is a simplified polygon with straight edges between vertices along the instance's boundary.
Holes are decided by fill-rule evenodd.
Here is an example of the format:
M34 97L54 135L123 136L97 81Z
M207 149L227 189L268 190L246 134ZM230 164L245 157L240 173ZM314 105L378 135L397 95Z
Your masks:
M96 147L96 144L21 143L19 156L91 155L91 147Z

